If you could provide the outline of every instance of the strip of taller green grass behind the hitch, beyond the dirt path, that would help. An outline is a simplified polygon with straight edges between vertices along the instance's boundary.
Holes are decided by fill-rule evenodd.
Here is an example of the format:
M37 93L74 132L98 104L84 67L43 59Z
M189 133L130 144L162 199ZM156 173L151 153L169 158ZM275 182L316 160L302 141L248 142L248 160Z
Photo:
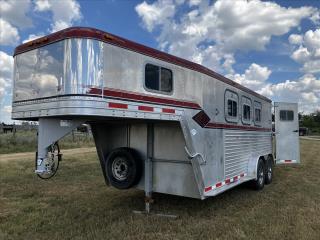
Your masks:
M68 134L59 141L63 149L93 147L94 142L91 135L75 132ZM17 152L35 152L37 149L36 130L18 130L15 134L0 134L0 154Z

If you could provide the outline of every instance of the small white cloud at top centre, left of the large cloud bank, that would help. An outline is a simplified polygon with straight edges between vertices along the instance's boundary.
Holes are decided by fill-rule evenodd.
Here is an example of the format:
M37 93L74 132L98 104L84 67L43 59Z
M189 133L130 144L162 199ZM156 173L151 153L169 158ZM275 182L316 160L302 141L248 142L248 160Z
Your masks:
M151 32L156 25L165 24L174 16L175 5L171 0L159 0L152 4L143 1L135 7L135 10L142 18L145 27Z

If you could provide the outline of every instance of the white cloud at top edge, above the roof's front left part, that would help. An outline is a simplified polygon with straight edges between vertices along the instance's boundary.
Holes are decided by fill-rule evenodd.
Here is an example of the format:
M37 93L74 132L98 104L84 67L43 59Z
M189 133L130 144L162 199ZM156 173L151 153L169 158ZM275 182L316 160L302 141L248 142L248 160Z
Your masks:
M53 23L51 24L51 32L70 27L82 18L80 4L76 0L36 0L35 11L52 11Z

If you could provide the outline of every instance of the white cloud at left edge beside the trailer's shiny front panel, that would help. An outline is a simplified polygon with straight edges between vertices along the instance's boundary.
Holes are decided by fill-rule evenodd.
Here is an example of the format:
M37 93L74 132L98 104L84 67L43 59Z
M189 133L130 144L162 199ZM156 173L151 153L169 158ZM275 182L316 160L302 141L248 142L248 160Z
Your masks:
M0 51L0 104L5 94L9 94L8 91L11 87L13 72L13 58Z

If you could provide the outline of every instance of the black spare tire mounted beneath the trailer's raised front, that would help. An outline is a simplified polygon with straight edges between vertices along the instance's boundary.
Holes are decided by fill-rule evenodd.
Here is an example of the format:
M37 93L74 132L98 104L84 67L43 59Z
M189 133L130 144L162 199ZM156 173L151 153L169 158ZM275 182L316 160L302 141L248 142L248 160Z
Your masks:
M128 189L137 184L142 175L142 163L138 154L130 148L117 148L106 160L106 175L112 186Z

